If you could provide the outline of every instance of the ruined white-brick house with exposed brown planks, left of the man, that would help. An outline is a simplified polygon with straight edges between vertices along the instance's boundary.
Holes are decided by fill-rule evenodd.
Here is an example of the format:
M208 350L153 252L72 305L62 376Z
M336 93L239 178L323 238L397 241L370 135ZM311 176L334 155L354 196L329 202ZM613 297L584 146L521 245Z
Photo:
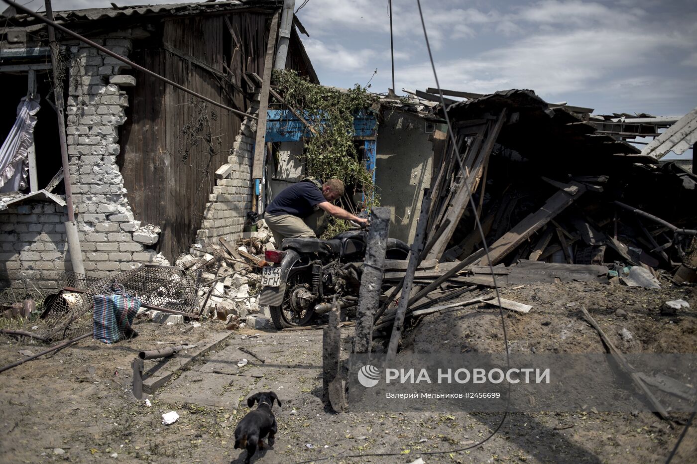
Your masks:
M59 32L70 179L86 272L174 262L195 242L242 232L252 203L254 144L254 119L244 120L244 114L254 111L258 98L247 73L263 75L271 22L282 3L114 5L55 13L56 22L98 45L236 110L204 104ZM51 287L72 267L47 28L12 8L4 15L2 138L15 123L21 98L35 95L40 109L33 148L25 153L28 169L17 180L21 188L6 185L2 191L0 277ZM297 27L287 32L287 67L316 82ZM229 169L215 176L222 165Z

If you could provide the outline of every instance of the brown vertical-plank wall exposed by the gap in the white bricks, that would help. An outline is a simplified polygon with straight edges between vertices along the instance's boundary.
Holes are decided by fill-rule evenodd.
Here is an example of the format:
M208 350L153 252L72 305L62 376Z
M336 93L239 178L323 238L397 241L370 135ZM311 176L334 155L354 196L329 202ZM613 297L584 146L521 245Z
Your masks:
M162 43L220 72L225 72L222 63L226 63L233 70L233 82L245 88L244 72L263 75L269 18L263 13L229 15L242 42L238 52L231 52L236 45L222 16L167 20L162 26L162 41L136 44L132 59L192 91L233 106L215 75L165 51ZM226 53L233 55L232 62ZM215 185L215 170L227 162L241 121L229 111L207 105L209 115L211 110L217 114L215 121L210 121L210 132L220 135L222 144L215 144L215 155L208 153L205 143L192 147L183 162L179 153L183 148L181 130L199 120L197 105L191 105L190 95L183 91L139 72L133 74L137 86L130 95L130 125L126 123L121 134L122 173L136 219L160 226L158 252L173 262L194 242ZM229 91L234 104L246 111L249 102L244 95L231 86Z

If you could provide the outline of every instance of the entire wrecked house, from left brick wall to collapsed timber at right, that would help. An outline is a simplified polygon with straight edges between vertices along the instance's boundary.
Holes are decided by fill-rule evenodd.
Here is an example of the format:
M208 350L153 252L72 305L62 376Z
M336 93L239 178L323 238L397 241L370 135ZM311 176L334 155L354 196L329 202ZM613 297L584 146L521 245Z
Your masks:
M300 41L302 24L292 15L288 31L279 24L282 3L112 6L55 14L58 24L228 108L203 102L72 36L59 36L70 178L86 273L174 263L187 252L202 256L220 238L243 236L253 224L248 213L263 214L277 192L305 175L304 140L312 134L270 88L277 36L289 39L286 68L318 80ZM2 130L13 127L15 105L25 95L38 95L30 101L38 101L40 109L35 141L26 153L26 178L22 169L14 170L16 185L3 187L0 277L55 286L72 265L46 26L11 9L5 15L0 79L13 95L6 99ZM632 213L614 202L691 228L694 212L684 206L694 201L694 175L671 163L659 167L661 155L654 152L694 143L689 130L694 114L680 121L595 116L592 109L548 104L531 91L450 92L467 99L445 98L454 121L454 156L437 92L407 93L413 96L383 95L378 109L357 115L354 144L381 203L391 208L392 237L411 242L424 189L436 195L428 260L484 264L467 208L471 194L484 233L500 254L496 263L531 256L569 264L622 259L664 269L680 263L687 238L675 241L644 223L630 226L623 219ZM266 125L266 131L257 125ZM633 137L657 137L646 148L653 152L628 144ZM460 156L475 173L469 188L459 177ZM569 188L582 192L568 199L562 192ZM539 221L526 227L533 219ZM618 230L608 234L608 224ZM511 233L518 234L514 240ZM643 259L630 248L639 249Z

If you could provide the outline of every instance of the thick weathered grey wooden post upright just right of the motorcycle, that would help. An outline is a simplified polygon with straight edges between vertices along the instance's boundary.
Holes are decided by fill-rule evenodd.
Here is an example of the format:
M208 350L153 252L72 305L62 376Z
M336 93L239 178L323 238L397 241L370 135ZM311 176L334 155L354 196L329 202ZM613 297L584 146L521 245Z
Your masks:
M368 234L368 248L363 261L363 274L360 279L353 353L370 353L375 311L380 304L383 264L385 263L389 231L390 209L374 208L370 233Z

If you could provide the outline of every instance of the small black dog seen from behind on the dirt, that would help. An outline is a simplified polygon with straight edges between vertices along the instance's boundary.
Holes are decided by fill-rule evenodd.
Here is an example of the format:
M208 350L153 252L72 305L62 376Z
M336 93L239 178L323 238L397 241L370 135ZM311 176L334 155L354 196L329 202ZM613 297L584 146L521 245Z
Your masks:
M235 428L235 449L247 449L247 459L245 464L250 464L250 459L256 453L256 447L263 449L262 438L268 434L268 444L273 447L275 435L278 431L276 418L271 412L273 401L281 405L278 396L274 392L259 392L247 399L247 406L252 408L255 401L259 401L259 406L255 410L247 412L242 418L237 428Z

